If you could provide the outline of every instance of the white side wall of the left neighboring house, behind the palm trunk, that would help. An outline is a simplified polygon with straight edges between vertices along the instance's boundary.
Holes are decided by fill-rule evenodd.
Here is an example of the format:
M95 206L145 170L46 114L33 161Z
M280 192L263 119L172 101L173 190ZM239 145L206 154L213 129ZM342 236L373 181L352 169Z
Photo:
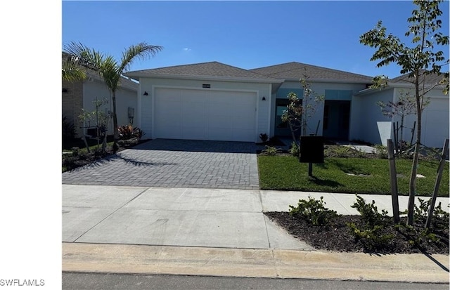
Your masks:
M108 87L100 81L84 81L83 86L83 107L87 112L93 112L95 105L93 101L106 98L108 104L104 105L105 108L113 112L113 98L108 90ZM116 114L117 114L117 126L123 126L129 124L128 119L128 107L134 107L134 122L133 126L137 125L137 119L139 118L137 92L131 91L127 88L118 88L116 91ZM91 124L93 126L94 124ZM108 126L108 135L113 135L113 119L110 119Z

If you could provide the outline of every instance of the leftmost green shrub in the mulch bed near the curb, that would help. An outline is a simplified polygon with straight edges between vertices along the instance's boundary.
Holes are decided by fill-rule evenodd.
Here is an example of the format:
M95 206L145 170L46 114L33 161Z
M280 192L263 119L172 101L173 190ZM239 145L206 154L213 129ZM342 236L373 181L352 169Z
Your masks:
M301 216L312 225L328 225L330 220L338 216L336 211L327 209L323 202L323 197L316 200L308 197L309 200L300 199L297 206L289 206L290 216Z

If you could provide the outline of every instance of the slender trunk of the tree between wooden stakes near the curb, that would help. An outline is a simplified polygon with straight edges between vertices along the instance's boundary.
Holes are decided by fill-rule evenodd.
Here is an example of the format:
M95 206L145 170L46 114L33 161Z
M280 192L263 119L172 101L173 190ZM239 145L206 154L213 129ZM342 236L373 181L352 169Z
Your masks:
M416 147L414 147L413 165L411 167L411 177L409 178L409 200L408 200L408 225L413 225L414 219L414 199L416 197L416 180L417 180L417 165L419 161L420 152L420 135L422 133L422 104L420 103L420 91L418 71L416 71L416 108L417 108L417 135Z

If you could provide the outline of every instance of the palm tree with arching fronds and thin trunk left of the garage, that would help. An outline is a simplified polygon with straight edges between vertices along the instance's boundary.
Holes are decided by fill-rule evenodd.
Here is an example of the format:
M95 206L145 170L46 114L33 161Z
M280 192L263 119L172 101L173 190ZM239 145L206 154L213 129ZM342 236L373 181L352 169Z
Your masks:
M114 127L114 150L117 149L117 140L119 140L119 133L117 131L117 114L115 105L115 93L120 87L120 78L124 72L127 72L132 62L136 58L144 59L146 57L154 56L159 51L162 51L162 46L153 46L141 42L130 46L122 52L120 62L117 62L113 56L105 55L93 48L84 46L79 42L70 42L64 46L64 51L72 55L72 59L77 60L78 65L88 67L94 70L105 81L108 86L112 100L113 100L113 127Z

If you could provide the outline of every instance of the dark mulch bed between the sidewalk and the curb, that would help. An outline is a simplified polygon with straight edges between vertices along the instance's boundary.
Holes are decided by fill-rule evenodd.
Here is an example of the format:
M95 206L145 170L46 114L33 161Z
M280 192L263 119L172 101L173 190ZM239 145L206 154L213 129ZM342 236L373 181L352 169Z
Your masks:
M288 212L266 212L264 213L279 226L287 230L290 235L301 239L316 249L340 252L365 252L365 253L440 253L449 254L449 225L439 225L439 230L430 229L439 242L433 242L428 238L420 241L420 244L409 242L408 232L405 228L397 230L394 223L386 225L383 233L391 233L394 238L389 244L373 247L363 240L356 241L350 234L346 223L355 223L358 228L363 228L364 223L361 216L338 216L328 226L314 226L301 217L290 216ZM402 218L402 223L406 223ZM416 230L423 230L422 224L415 224Z

